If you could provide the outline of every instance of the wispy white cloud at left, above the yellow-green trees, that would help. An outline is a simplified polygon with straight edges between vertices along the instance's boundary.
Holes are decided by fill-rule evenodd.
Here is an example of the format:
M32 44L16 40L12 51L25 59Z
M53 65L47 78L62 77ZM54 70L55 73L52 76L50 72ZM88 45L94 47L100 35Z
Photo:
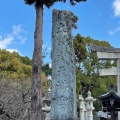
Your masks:
M23 44L25 43L26 39L27 38L24 36L22 25L13 25L10 33L7 35L3 35L3 33L0 34L0 48L8 49L9 45L11 44Z

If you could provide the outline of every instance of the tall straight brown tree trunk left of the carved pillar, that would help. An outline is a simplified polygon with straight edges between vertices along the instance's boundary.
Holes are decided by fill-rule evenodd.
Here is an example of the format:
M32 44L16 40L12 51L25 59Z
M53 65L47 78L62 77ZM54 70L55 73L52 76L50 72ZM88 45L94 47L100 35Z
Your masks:
M31 90L31 117L30 120L42 120L42 25L43 5L36 6L36 28L34 33L33 74Z

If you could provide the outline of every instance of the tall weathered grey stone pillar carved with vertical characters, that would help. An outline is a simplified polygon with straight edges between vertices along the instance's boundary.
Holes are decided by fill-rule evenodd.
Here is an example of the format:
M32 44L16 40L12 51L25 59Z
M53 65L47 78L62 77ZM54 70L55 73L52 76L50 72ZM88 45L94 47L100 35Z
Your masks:
M51 120L76 120L76 73L72 13L52 13Z

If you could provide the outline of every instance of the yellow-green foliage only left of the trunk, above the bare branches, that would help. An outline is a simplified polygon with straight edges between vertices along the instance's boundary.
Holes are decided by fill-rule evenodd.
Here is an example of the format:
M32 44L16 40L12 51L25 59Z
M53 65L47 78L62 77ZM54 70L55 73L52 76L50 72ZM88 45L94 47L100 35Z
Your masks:
M27 79L31 77L32 67L22 59L18 53L10 53L6 50L0 50L0 78L5 79ZM31 61L28 58L28 61Z

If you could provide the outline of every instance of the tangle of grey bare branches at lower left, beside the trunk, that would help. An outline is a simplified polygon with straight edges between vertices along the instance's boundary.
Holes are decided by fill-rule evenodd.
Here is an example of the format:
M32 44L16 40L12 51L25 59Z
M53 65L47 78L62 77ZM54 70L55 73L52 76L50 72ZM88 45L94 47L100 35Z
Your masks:
M0 120L29 120L30 84L0 80Z

